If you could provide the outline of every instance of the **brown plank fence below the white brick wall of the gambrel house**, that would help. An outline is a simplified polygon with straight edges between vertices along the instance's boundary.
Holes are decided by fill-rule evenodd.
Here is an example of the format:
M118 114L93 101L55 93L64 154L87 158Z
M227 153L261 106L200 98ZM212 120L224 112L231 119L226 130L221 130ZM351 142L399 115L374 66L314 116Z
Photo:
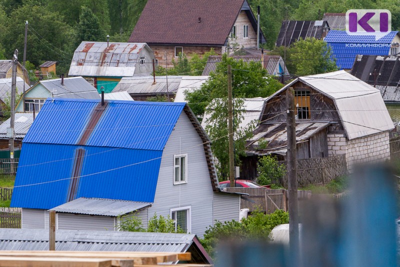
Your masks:
M280 161L286 165L286 161ZM307 158L297 160L297 184L299 187L306 185L323 186L336 177L347 174L345 155L334 155L327 158ZM287 188L286 174L278 181Z

